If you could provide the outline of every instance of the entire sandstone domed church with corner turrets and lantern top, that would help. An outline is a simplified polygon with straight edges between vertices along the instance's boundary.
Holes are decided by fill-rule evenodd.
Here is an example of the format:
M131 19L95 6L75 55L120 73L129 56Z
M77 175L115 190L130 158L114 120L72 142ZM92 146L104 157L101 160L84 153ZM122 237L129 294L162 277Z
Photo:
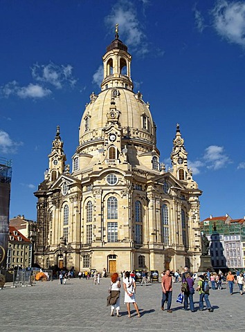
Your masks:
M134 93L131 55L116 38L102 57L104 79L92 93L79 145L65 165L60 127L37 202L35 261L44 268L198 270L199 196L179 124L172 168L160 165L156 124Z

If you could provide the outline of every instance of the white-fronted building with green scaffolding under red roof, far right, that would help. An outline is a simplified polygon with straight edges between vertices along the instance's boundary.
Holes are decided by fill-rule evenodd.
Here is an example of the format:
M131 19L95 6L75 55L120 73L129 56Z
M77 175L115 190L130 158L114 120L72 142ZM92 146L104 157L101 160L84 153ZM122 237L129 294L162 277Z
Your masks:
M228 214L210 216L201 221L201 231L211 241L210 255L213 268L221 268L222 261L230 269L245 268L245 219L232 219ZM217 241L216 244L212 243L212 239L217 236L219 244Z

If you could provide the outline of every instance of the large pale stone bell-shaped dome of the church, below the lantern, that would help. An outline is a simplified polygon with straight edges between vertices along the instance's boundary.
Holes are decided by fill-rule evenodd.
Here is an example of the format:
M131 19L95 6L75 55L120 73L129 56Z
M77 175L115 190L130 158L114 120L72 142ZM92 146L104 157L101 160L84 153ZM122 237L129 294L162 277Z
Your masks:
M92 94L80 124L80 145L103 136L108 127L111 109L118 113L118 125L123 129L123 137L131 140L156 143L155 127L149 104L146 104L141 93L134 93L123 88L102 91L98 96ZM89 124L88 124L89 123Z

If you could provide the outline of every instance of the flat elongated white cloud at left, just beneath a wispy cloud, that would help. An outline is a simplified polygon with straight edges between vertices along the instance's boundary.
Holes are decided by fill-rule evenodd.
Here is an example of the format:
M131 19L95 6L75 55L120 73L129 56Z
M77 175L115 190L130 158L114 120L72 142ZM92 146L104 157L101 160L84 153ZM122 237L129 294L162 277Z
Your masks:
M39 84L28 84L28 86L19 86L16 81L7 83L0 87L0 95L3 97L10 97L10 95L17 95L19 98L44 98L52 92L45 89Z

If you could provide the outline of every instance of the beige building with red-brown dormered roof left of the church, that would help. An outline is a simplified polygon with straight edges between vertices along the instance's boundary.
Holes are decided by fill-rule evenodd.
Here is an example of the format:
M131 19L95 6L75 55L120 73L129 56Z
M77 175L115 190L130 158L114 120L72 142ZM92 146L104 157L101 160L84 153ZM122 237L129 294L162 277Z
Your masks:
M31 267L33 244L17 228L10 226L6 268Z

